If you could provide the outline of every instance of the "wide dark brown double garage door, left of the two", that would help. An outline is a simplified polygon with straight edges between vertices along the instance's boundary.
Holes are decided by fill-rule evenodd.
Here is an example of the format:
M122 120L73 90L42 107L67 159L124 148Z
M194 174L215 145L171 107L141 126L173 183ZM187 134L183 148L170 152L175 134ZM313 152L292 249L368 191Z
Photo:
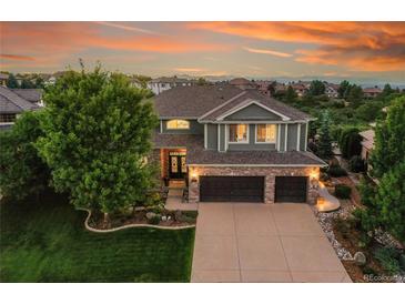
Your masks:
M263 202L263 176L200 176L201 202Z

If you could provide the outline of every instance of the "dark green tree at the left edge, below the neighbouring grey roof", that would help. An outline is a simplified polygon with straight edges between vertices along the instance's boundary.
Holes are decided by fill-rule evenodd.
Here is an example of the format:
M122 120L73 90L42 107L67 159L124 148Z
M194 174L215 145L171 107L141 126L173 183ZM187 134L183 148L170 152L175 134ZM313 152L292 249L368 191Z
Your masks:
M11 199L38 195L49 183L49 169L34 146L41 111L23 113L11 130L0 132L0 189Z

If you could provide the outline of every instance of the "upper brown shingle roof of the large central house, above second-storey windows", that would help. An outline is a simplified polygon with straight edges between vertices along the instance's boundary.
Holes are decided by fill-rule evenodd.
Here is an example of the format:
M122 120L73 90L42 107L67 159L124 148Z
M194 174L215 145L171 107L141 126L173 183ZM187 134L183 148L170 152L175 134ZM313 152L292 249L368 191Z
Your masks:
M243 91L230 84L173 88L155 97L154 104L161 118L194 118L212 122L247 100L291 120L311 119L308 114L255 90Z

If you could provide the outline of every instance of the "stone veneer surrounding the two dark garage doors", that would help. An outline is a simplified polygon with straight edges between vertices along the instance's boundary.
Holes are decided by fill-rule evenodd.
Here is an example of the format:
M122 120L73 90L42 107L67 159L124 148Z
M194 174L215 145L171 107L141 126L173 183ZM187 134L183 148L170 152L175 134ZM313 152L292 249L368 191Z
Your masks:
M189 166L189 202L196 203L200 200L200 183L192 182L193 175L212 175L212 176L264 176L264 202L274 203L275 195L275 176L308 176L307 202L314 204L317 197L317 178L320 168L276 168L276 166ZM314 185L310 176L316 176Z

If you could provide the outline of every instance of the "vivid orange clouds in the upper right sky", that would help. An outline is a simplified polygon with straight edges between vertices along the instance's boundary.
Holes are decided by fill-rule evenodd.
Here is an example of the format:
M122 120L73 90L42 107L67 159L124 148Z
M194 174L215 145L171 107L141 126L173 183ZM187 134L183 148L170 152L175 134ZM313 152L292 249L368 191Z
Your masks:
M317 44L296 61L358 71L405 70L405 22L193 22L190 29Z

